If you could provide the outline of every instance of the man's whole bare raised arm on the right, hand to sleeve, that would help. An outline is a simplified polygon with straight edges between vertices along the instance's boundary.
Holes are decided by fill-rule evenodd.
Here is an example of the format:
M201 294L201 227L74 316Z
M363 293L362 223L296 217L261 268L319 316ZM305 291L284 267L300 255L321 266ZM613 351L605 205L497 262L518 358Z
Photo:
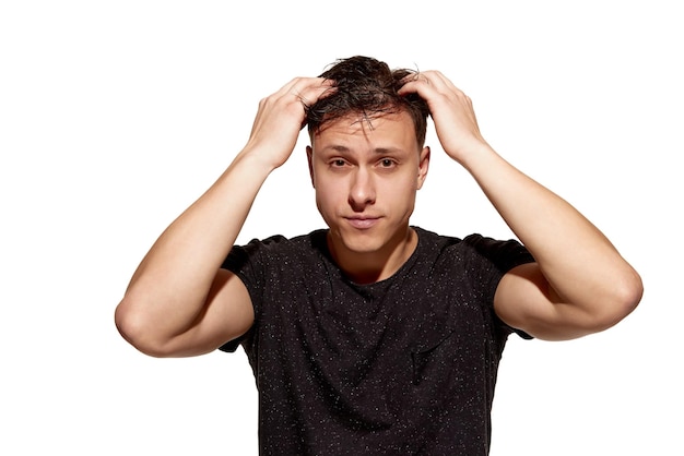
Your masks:
M639 303L636 271L568 202L522 173L484 141L472 103L441 73L406 80L431 109L445 152L473 176L534 256L500 280L494 308L508 325L550 340L613 326Z

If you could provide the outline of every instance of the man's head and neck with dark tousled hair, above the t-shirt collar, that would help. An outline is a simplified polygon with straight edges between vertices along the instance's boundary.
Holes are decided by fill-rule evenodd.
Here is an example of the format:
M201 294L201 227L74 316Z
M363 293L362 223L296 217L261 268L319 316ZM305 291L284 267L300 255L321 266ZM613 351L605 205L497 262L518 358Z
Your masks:
M307 110L316 204L338 264L356 281L396 271L412 251L409 218L429 164L427 105L397 91L411 71L366 57L322 74L335 89Z

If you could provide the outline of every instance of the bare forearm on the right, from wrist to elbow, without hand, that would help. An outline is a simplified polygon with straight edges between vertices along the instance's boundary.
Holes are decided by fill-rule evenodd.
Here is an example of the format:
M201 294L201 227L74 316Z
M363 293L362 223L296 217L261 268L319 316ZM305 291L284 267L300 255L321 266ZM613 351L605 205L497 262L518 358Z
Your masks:
M463 159L564 302L592 307L639 281L603 233L565 200L483 145ZM636 280L635 280L636 279ZM628 292L628 291L625 291Z

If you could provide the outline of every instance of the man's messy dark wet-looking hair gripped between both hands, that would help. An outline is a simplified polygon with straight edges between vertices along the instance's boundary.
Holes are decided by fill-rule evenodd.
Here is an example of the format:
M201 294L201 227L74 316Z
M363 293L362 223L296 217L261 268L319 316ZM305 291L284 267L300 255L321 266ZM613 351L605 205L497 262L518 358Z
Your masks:
M326 124L349 115L362 120L406 112L413 120L415 137L420 147L425 143L427 129L427 104L417 94L399 95L403 79L417 74L414 70L390 70L387 63L370 57L339 59L320 77L332 81L335 91L307 107L309 135Z

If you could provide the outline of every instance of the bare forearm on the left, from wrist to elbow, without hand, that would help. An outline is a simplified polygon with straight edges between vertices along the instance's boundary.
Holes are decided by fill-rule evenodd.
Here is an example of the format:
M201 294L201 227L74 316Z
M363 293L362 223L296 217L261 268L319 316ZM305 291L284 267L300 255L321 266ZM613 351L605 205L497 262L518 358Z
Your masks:
M217 181L157 239L135 271L121 312L155 322L155 336L170 338L204 311L221 263L235 243L271 168L241 153Z

